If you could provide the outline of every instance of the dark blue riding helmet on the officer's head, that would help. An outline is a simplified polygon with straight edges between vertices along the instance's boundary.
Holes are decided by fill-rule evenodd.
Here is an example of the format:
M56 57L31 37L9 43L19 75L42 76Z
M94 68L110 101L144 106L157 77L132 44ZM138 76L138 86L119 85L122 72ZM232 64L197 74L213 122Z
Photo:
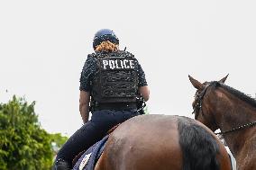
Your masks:
M96 46L99 45L101 42L109 40L114 44L119 44L118 38L115 36L114 31L109 29L102 29L96 32L93 42L93 47L96 49Z

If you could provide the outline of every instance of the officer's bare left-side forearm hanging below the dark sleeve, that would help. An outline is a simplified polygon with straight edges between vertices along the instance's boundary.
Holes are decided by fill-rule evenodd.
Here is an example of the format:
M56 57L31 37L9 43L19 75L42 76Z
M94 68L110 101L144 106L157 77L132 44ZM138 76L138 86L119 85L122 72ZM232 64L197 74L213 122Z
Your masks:
M86 91L80 91L80 100L79 100L79 111L84 123L87 123L89 119L89 102L90 94Z

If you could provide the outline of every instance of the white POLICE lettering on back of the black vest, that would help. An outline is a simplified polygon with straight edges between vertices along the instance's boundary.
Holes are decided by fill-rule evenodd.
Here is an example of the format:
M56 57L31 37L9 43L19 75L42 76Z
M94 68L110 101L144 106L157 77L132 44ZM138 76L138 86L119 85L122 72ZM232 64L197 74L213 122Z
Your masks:
M104 69L134 68L133 59L103 59L102 64Z

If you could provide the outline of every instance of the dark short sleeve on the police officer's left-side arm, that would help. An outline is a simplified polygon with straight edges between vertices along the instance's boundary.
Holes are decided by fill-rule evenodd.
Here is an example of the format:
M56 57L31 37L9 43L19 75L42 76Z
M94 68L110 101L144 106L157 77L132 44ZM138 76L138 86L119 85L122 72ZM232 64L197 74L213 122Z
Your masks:
M82 91L91 91L91 82L96 74L96 58L88 55L87 61L82 69L80 76L80 87Z

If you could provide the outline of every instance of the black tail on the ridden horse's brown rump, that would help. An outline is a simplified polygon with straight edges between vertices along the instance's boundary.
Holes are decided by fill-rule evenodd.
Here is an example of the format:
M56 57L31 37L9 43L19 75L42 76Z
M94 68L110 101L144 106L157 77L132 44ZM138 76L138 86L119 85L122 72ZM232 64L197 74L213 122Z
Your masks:
M214 136L189 118L178 118L183 170L219 170L219 146Z

